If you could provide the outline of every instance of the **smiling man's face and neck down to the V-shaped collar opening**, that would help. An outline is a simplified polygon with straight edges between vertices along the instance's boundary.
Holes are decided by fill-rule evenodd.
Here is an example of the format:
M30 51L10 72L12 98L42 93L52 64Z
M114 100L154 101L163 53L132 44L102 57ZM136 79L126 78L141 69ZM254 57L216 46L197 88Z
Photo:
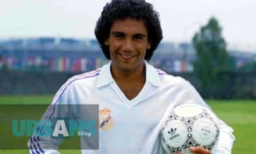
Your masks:
M112 76L127 99L132 100L145 84L144 57L148 31L142 20L123 19L113 23L110 36L104 44L109 46Z

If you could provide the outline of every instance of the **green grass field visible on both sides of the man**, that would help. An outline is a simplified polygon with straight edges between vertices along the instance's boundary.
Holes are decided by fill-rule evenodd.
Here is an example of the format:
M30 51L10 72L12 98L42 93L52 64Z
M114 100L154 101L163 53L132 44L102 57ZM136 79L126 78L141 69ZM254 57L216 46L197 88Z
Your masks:
M3 104L49 104L53 96L2 96ZM255 154L256 148L256 101L255 100L207 100L218 117L234 128L236 142L232 154ZM0 150L0 154L26 154L28 151ZM61 151L61 154L79 154L80 151Z

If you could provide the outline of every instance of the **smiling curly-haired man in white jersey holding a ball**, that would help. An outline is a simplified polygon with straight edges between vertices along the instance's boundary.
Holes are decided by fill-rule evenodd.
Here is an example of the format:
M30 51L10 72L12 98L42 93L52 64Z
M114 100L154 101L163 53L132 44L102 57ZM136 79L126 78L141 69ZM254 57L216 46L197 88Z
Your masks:
M165 153L160 126L166 113L189 102L207 104L183 78L148 65L162 39L159 14L144 0L113 0L104 7L95 34L109 64L69 79L52 104L90 102L99 105L102 118L108 115L108 121L99 126L99 150L82 150L84 154ZM212 151L199 147L190 150L196 154L230 154L233 130L220 119L218 125L220 136ZM49 144L56 148L45 150ZM58 153L58 145L58 140L32 138L30 151Z

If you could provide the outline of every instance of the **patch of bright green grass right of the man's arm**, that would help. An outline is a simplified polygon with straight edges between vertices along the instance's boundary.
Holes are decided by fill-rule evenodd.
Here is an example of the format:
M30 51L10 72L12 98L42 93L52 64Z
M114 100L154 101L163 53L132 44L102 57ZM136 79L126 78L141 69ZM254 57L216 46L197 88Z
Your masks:
M236 142L232 154L255 154L256 101L209 101L218 117L234 129Z

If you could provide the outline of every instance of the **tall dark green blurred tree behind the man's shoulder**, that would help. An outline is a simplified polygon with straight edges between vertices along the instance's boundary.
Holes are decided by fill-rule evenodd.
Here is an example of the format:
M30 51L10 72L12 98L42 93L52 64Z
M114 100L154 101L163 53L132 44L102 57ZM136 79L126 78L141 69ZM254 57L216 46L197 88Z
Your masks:
M221 32L222 28L218 25L218 20L212 17L193 37L197 54L194 63L195 73L201 81L203 92L211 98L216 89L224 88L224 83L228 79L221 75L221 72L227 71L229 66L226 43Z

